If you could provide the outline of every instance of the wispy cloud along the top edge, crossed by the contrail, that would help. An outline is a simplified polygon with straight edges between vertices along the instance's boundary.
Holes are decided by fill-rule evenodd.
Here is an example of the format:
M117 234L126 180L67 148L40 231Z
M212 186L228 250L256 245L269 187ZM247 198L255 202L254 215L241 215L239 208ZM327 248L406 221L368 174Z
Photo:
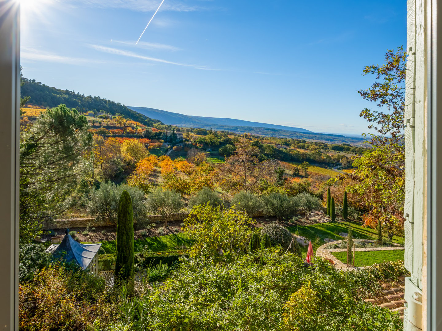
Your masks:
M68 0L72 4L86 5L96 8L122 8L131 11L155 11L161 1L159 0ZM181 1L167 1L161 7L162 11L197 11L200 6L189 6Z

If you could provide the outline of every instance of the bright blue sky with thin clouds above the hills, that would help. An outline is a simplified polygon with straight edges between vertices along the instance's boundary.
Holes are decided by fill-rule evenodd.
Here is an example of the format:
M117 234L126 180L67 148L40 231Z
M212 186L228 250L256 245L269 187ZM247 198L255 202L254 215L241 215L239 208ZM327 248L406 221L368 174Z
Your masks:
M127 106L368 132L356 90L406 44L406 1L21 0L23 75Z

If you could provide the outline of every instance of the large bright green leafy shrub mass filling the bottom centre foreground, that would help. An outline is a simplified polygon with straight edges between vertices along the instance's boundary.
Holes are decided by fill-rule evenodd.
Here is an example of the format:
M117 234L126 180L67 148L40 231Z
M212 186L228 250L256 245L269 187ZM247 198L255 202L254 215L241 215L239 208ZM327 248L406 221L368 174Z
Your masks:
M123 296L119 322L108 330L401 330L399 314L358 296L361 286L377 290L368 272L340 272L321 259L305 268L281 249L231 263L183 260L164 286L139 298Z

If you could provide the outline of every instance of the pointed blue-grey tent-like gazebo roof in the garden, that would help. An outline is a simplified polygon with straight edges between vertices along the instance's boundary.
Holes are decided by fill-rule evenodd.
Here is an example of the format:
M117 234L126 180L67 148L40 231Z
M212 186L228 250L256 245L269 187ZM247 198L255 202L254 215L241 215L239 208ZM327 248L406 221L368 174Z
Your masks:
M46 252L53 254L66 252L63 256L65 260L76 261L85 270L89 267L95 254L100 249L101 244L80 244L75 241L70 234L65 235L59 245L50 245Z

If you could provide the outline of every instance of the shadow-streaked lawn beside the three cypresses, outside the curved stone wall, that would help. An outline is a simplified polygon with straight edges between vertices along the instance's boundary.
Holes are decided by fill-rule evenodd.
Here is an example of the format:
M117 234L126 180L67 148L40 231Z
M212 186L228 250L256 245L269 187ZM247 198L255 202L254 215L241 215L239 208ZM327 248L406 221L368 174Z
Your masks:
M300 236L306 237L307 240L312 241L313 252L316 249L325 244L324 239L330 238L334 240L343 240L345 237L339 236L340 232L348 232L348 227L351 226L354 239L377 239L377 230L369 227L363 227L362 223L354 221L337 221L328 223L318 223L312 225L294 225L289 226L288 229L291 233L297 233ZM318 238L317 238L318 237ZM404 244L404 238L394 236L392 242L398 244ZM301 247L301 251L304 255L307 254L307 246Z

